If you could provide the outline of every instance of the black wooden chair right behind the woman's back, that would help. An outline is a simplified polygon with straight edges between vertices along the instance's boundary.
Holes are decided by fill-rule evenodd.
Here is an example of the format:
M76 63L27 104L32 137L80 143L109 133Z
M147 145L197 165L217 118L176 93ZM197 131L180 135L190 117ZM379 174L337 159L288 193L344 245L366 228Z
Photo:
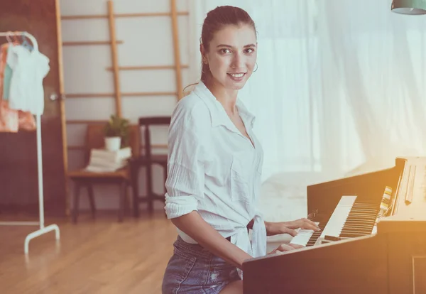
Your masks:
M155 116L155 117L141 117L139 118L139 129L141 131L141 152L137 158L131 158L129 166L131 169L131 185L133 190L133 215L139 216L139 203L148 203L148 212L153 213L153 202L159 200L164 203L164 194L158 195L153 192L153 165L160 165L163 168L164 183L167 179L167 160L166 154L152 154L151 153L151 126L170 126L170 116ZM141 167L146 167L146 197L139 195L138 175Z

